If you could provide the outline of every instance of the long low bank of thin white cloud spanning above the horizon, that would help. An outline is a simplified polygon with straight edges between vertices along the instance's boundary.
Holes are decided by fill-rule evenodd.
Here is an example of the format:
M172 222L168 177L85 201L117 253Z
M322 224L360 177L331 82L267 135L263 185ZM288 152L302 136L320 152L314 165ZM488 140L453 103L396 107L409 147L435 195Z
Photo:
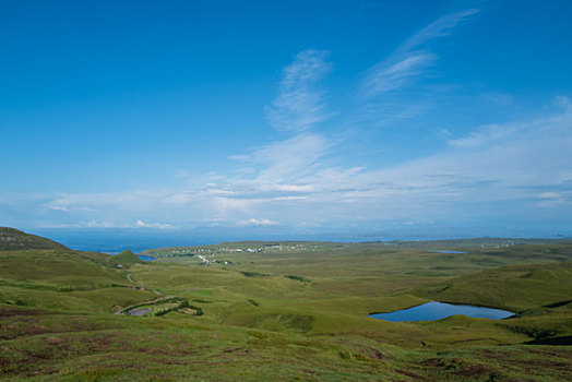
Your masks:
M309 227L336 220L369 226L381 220L439 222L460 214L474 218L500 207L509 215L534 215L538 208L572 213L572 108L567 103L559 98L559 108L544 109L537 118L475 127L433 155L386 168L322 163L266 176L288 162L276 157L260 159L251 179L227 177L179 191L24 194L20 200L0 194L0 204L9 201L9 206L26 211L61 206L69 210L63 215L70 215L70 222L87 222L83 227L169 228L208 222L230 227L303 222ZM281 181L286 177L288 181Z

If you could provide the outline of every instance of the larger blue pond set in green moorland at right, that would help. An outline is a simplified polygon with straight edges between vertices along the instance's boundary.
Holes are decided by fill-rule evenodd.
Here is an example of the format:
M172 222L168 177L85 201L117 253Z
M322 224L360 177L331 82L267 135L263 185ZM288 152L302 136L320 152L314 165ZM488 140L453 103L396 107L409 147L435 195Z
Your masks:
M390 313L376 313L369 317L392 322L436 321L450 315L464 314L476 319L502 320L513 317L513 312L501 309L461 306L439 301L427 302L417 307L397 310Z

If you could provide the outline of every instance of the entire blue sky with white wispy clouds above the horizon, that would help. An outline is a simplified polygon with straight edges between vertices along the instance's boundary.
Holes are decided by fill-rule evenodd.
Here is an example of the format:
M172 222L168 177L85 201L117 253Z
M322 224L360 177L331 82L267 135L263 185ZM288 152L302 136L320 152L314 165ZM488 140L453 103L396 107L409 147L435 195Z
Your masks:
M0 0L0 226L572 235L571 16Z

